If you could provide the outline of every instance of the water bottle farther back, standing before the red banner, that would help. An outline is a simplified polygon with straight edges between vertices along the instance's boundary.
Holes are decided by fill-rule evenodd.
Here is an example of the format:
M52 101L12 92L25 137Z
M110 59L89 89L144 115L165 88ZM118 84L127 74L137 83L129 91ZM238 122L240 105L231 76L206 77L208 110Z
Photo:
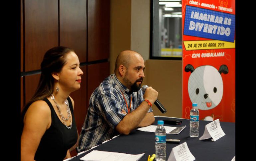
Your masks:
M190 111L190 137L198 137L199 136L199 111L197 108L197 104L192 104L192 109Z

